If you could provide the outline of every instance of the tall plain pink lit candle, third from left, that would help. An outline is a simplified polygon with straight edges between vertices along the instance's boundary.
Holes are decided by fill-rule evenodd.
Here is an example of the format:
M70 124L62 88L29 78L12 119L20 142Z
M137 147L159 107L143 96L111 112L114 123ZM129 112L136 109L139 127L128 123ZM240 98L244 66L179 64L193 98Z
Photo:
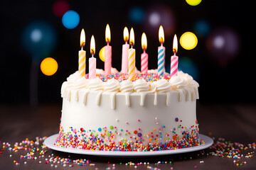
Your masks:
M105 76L111 74L112 67L112 47L110 46L110 26L107 24L105 38L107 45L105 46Z

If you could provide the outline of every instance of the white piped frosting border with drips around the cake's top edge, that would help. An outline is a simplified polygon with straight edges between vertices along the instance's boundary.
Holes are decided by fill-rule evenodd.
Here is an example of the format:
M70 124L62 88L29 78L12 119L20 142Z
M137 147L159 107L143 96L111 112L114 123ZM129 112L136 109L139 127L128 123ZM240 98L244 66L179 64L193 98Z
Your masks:
M117 69L112 68L113 73L117 73ZM149 70L149 72L156 72L156 70ZM104 74L102 69L97 69L97 74ZM178 101L183 100L183 95L185 94L186 101L196 101L198 99L198 86L199 84L193 80L193 77L190 75L178 72L178 75L171 77L169 81L166 79L159 79L151 83L147 82L145 79L137 79L136 81L124 80L119 82L117 79L108 79L106 82L103 82L99 77L96 79L85 79L85 77L80 77L78 72L71 74L68 77L67 81L63 83L61 87L61 96L67 98L70 101L74 98L75 101L79 99L79 91L85 91L84 103L87 103L87 94L91 91L97 92L97 105L100 105L100 98L102 93L110 93L111 106L115 108L115 96L116 94L125 94L126 106L130 106L130 95L136 93L141 96L140 105L144 106L145 96L147 94L154 93L154 106L158 104L157 94L166 94L166 106L170 105L170 97L173 91L177 91Z

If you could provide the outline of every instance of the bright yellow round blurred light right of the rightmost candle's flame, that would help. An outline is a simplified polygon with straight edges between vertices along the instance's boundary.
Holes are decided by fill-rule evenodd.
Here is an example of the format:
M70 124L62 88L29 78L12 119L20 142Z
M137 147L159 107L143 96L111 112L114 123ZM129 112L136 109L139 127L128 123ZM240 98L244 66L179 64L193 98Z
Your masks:
M192 50L193 48L196 47L198 43L198 39L195 34L191 32L186 32L181 35L180 38L180 44L181 47L183 47L186 50Z

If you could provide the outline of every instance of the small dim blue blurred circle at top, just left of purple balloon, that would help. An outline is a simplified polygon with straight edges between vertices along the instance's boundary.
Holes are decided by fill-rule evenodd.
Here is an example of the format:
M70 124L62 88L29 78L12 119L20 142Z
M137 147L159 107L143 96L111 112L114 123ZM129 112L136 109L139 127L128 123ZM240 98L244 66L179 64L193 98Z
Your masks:
M132 23L142 23L145 18L145 11L141 7L135 6L129 10L128 15Z

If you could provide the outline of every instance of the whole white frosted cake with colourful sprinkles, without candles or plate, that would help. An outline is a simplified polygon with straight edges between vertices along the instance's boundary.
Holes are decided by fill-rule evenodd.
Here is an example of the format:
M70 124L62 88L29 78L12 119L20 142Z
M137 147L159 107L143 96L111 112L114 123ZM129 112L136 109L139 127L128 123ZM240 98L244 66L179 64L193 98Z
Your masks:
M201 145L196 120L198 83L178 72L153 71L134 81L115 72L96 79L71 74L61 88L63 108L55 145L102 151L159 151Z

